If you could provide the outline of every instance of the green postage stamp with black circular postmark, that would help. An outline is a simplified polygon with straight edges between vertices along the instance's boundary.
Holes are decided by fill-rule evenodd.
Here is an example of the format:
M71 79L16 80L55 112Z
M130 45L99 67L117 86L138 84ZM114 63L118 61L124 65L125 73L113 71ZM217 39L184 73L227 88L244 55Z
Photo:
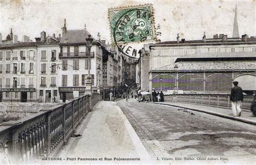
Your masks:
M152 5L109 9L112 44L154 40Z

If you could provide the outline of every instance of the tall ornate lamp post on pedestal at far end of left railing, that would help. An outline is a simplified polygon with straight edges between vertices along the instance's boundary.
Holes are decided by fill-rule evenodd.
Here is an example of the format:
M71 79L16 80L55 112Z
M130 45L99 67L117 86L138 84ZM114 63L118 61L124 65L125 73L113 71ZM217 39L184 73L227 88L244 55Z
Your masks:
M88 35L88 38L85 39L86 40L86 46L88 48L88 58L89 58L89 68L88 68L88 76L87 76L87 82L86 82L86 89L85 89L85 93L86 94L91 94L91 87L92 87L92 84L91 84L91 73L90 73L90 70L91 70L91 47L92 47L92 41L93 41L93 38L91 38L91 35L89 34Z

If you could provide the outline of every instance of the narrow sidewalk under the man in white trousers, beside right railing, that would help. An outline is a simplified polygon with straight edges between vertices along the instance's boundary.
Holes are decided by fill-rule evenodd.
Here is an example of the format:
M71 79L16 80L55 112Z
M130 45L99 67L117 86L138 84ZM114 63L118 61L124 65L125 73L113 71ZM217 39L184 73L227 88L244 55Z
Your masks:
M244 123L256 125L256 117L253 116L252 112L242 111L240 117L232 117L233 113L231 109L228 110L221 107L213 107L213 106L191 104L191 103L179 103L179 102L145 102L145 103L171 105L171 106L213 114L215 116L220 116L220 117L238 120Z

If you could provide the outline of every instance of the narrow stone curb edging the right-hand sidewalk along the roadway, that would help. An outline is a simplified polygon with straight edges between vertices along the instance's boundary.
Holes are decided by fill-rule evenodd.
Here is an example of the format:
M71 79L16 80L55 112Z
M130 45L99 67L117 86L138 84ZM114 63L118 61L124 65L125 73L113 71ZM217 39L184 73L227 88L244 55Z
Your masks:
M182 108L185 108L185 109L190 109L190 110L194 110L194 111L198 111L198 112L204 112L204 113L212 114L212 115L223 117L223 118L237 120L237 121L241 121L243 123L256 125L256 121L253 121L253 120L250 120L250 119L232 117L232 116L228 116L226 114L211 112L211 111L206 111L206 110L201 110L201 109L196 109L196 108L188 107L188 106L180 106L180 105L173 105L173 104L166 104L166 103L154 103L154 102L145 102L145 103L160 104L160 105L163 104L163 105L169 105L169 106L175 106L175 107L182 107Z

